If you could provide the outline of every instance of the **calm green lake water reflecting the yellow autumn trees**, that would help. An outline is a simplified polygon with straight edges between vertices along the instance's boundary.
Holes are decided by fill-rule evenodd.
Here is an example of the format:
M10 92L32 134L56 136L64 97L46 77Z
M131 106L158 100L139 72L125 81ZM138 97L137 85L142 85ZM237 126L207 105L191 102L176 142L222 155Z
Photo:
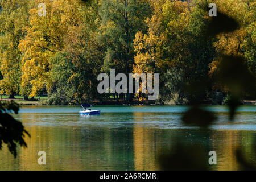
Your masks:
M256 163L256 106L240 106L233 122L226 106L207 106L217 115L209 130L184 125L188 106L94 106L101 115L80 116L77 106L23 106L16 119L31 138L16 159L6 145L0 170L158 170L159 154L177 138L216 151L213 170L237 170L236 149ZM46 152L46 165L38 152Z

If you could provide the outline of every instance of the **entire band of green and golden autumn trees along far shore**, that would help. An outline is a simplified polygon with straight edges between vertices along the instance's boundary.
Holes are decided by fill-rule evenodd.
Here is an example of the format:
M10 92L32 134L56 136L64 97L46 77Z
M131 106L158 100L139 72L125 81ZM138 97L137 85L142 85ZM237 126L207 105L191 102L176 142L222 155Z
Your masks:
M255 100L253 0L43 2L46 16L38 14L41 0L0 2L0 94L48 94L44 103L56 105L147 99L99 94L98 74L114 68L159 73L157 104L222 104L231 90ZM209 3L216 3L217 17L236 22L226 24L234 30L216 29L223 25L214 25ZM233 57L228 66L225 56Z

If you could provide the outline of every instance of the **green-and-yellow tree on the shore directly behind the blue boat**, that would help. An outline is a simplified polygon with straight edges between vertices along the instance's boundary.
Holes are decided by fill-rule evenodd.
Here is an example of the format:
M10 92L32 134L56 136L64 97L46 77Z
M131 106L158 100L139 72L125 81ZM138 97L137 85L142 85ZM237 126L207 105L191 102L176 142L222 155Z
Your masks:
M98 3L80 4L74 18L76 26L68 27L65 46L51 59L53 85L49 95L59 98L59 102L79 104L100 98L97 76L103 64L103 52L96 39L100 22Z

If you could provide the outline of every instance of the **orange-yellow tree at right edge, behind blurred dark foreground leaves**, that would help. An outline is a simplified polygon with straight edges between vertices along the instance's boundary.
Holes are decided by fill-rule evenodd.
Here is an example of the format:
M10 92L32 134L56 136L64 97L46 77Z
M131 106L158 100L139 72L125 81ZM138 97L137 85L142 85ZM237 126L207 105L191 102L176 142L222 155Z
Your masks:
M224 13L230 16L239 23L239 28L233 32L222 32L221 34L217 35L217 41L214 43L214 47L216 48L218 57L214 59L214 61L209 65L210 71L209 76L214 77L214 75L218 75L220 72L221 64L221 57L222 55L225 56L232 56L232 57L241 57L244 59L245 66L251 72L251 75L256 75L255 72L255 65L256 65L256 57L255 57L255 32L256 32L256 24L255 24L255 7L256 3L254 1L214 1L217 6L218 10L221 13ZM234 59L234 64L235 65ZM242 66L242 65L241 65ZM233 68L236 69L236 68ZM246 69L246 68L244 68ZM240 73L242 73L240 75ZM243 67L238 68L236 75L240 75L240 78L244 78L245 71L243 71ZM239 78L238 78L239 80ZM237 80L237 82L239 82ZM247 79L242 81L243 83L246 82ZM221 90L222 92L229 93L230 88L221 83L222 81L214 82L214 89ZM245 86L243 86L243 90ZM236 89L238 90L238 89ZM254 98L255 97L255 90L250 88L247 89L244 96Z

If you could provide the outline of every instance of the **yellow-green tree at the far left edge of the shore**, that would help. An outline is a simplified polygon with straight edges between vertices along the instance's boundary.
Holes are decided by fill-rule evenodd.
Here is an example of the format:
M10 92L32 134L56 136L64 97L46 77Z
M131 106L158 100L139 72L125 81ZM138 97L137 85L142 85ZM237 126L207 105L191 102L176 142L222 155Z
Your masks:
M22 53L18 45L25 36L22 29L27 25L29 1L7 0L0 5L0 92L13 97L20 90Z

